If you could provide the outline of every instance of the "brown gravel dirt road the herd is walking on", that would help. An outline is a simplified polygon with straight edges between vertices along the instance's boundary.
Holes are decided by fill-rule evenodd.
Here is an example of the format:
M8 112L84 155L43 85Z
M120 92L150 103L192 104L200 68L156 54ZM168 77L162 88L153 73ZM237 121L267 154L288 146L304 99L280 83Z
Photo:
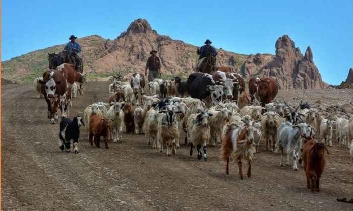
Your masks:
M73 100L70 116L82 115L91 99L107 99L108 84L86 85L85 94ZM279 96L286 96L284 92ZM315 95L313 91L305 97L310 99L310 93ZM349 93L338 95L349 98ZM329 148L321 192L311 193L302 165L299 171L280 167L279 154L267 152L263 143L254 156L252 177L240 180L236 164L225 174L220 144L207 148L205 162L196 154L190 157L185 145L167 157L151 149L144 135L123 134L122 143L98 149L89 145L81 128L80 153L62 152L58 124L49 124L46 115L45 100L35 98L31 85L2 86L4 210L352 209L352 204L336 201L349 200L353 193L347 148Z

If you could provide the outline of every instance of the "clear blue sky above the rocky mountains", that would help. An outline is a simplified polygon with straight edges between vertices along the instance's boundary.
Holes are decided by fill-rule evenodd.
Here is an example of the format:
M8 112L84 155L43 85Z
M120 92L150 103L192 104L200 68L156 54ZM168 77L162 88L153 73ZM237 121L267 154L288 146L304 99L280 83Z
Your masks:
M323 80L344 81L353 68L353 1L20 1L3 0L2 58L63 44L74 34L115 39L137 18L159 34L196 46L275 54L287 34L310 45ZM83 49L84 50L84 49Z

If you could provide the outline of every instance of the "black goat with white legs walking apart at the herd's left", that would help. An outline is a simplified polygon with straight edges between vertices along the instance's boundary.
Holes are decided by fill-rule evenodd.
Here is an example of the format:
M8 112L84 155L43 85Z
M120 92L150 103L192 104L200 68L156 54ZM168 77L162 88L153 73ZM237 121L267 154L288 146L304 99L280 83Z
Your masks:
M73 140L74 152L79 152L80 126L83 123L82 117L75 116L72 120L62 118L59 126L59 148L66 152L70 152L70 140Z

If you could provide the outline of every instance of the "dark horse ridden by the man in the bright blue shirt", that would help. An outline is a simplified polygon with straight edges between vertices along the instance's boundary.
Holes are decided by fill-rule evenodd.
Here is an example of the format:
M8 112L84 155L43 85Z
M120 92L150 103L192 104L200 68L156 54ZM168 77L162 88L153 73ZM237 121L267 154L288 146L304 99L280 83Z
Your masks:
M63 63L68 63L72 64L75 66L75 58L72 56L69 56L69 53L66 49L64 49L61 53L48 53L49 55L49 69L56 69L60 64ZM81 65L79 68L76 70L80 73L83 72L83 63L82 60L80 59Z

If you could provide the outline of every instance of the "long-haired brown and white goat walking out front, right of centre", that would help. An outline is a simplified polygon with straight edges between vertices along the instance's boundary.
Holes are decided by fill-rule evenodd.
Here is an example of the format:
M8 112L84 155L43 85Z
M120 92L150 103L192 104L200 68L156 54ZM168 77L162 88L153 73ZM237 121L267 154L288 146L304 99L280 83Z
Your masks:
M248 161L247 176L251 177L251 161L255 152L255 131L256 129L252 126L239 127L237 123L226 124L221 146L221 159L227 161L226 174L229 174L229 158L232 158L238 163L240 179L243 179L242 162L244 160ZM235 148L233 142L237 143Z

